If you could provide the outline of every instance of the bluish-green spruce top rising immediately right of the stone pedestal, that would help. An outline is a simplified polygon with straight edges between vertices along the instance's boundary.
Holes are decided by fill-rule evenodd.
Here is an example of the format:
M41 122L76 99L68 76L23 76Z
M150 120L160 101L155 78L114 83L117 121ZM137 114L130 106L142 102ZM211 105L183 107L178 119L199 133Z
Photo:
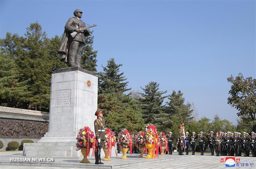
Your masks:
M119 67L123 64L116 64L115 59L108 60L106 67L103 67L103 72L99 73L99 93L113 93L113 92L125 92L131 90L127 89L128 82L124 82L124 72L119 73Z

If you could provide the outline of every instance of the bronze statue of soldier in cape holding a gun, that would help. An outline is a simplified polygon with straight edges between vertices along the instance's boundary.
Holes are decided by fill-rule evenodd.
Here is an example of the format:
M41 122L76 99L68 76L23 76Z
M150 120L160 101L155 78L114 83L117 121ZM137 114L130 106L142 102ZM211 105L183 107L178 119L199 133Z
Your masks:
M85 45L85 37L91 35L89 29L85 28L85 23L80 19L82 11L76 9L73 18L69 18L65 25L62 41L58 53L60 61L68 63L68 67L81 67L81 59ZM71 36L71 33L75 36Z

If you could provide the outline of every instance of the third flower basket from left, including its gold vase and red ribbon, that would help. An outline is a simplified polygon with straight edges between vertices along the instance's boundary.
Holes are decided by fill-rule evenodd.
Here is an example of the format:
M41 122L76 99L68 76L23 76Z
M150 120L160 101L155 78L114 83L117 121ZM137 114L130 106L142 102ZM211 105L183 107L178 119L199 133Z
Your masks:
M123 157L121 159L126 159L126 153L130 147L130 154L132 155L132 137L127 129L122 129L120 133L118 133L119 146L122 149ZM126 151L127 150L127 151Z

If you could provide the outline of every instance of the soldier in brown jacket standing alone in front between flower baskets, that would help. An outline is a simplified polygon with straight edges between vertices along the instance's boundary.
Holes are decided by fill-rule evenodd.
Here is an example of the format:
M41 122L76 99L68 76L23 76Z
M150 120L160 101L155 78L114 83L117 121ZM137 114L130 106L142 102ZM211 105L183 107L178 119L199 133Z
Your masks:
M103 113L101 109L95 112L97 119L94 121L94 131L96 135L95 164L104 164L100 159L100 150L103 148L105 141L105 120L102 119Z

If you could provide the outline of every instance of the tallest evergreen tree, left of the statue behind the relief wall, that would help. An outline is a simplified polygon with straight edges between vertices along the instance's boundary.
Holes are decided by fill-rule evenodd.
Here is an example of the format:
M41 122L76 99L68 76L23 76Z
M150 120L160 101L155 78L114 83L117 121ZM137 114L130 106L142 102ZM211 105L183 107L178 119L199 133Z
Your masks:
M30 79L27 108L49 111L52 65L46 47L50 40L38 23L30 24L25 37L16 63L22 74L21 80Z

